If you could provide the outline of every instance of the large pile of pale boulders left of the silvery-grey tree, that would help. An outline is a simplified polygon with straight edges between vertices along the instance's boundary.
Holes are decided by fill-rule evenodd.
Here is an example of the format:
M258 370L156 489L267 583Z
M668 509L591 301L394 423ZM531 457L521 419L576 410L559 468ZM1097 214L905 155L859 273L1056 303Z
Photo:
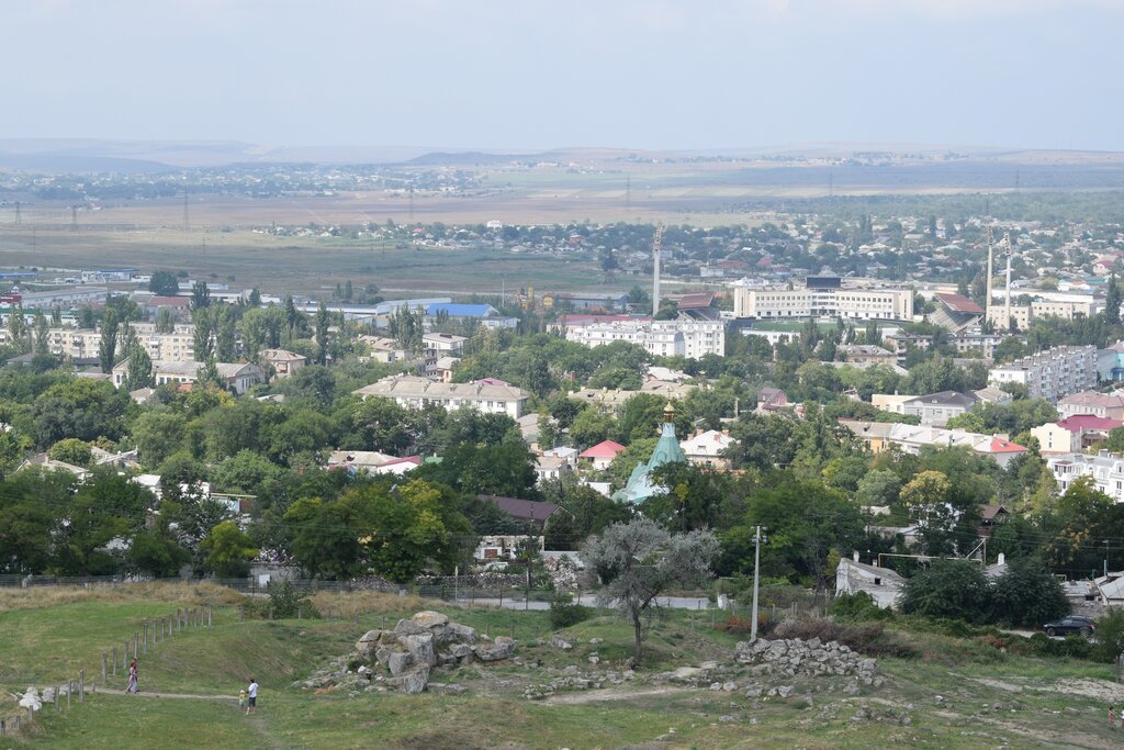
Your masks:
M515 641L506 636L495 640L479 635L468 625L451 622L439 612L419 612L409 620L399 620L393 630L371 630L355 642L355 653L336 659L306 680L293 683L302 688L352 688L363 690L398 689L422 693L439 687L456 693L459 686L429 681L435 669L455 669L473 661L500 661L515 653ZM352 671L348 661L361 659L373 663Z

